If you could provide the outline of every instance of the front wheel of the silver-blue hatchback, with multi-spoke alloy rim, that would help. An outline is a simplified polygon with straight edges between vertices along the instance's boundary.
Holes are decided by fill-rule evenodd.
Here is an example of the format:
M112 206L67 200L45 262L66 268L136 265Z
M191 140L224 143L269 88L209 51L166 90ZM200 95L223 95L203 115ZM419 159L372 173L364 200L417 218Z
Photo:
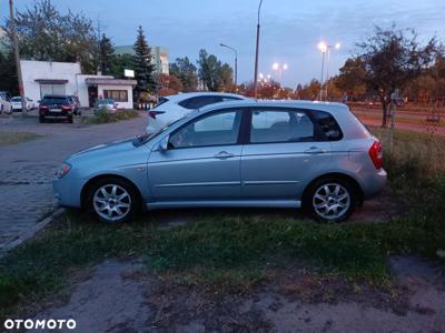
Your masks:
M139 211L140 200L131 183L119 178L108 178L90 186L88 205L100 221L123 223Z

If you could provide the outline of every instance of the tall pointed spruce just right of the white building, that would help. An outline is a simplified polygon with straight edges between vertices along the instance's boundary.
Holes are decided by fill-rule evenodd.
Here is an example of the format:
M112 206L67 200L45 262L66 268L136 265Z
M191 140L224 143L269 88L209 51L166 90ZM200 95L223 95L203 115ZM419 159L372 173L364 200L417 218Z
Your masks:
M134 69L136 85L136 97L141 98L145 92L155 92L157 82L154 77L155 65L151 63L150 49L144 34L142 27L139 26L138 36L134 46Z

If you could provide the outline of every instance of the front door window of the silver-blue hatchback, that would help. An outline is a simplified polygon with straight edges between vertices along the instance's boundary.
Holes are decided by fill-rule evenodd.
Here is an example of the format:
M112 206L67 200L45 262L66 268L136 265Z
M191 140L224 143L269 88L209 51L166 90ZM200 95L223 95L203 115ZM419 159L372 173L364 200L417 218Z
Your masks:
M170 135L169 149L236 144L241 111L231 110L200 118Z

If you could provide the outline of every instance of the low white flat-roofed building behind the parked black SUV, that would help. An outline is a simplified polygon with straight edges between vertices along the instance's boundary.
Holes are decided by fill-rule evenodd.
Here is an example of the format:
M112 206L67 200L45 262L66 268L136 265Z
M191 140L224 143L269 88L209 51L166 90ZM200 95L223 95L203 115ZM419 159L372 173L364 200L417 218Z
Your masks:
M93 107L97 99L111 98L119 109L132 109L135 80L108 75L83 75L79 63L20 60L24 95L38 101L46 94L70 94L81 107Z

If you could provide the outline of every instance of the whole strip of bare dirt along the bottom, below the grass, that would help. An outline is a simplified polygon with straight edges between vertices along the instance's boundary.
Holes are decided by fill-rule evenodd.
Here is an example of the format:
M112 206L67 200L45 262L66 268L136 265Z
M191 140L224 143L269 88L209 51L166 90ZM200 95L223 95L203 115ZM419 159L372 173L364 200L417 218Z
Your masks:
M289 266L221 294L148 273L140 261L106 261L36 319L72 317L76 332L445 332L443 269L412 256L389 266L388 285Z

